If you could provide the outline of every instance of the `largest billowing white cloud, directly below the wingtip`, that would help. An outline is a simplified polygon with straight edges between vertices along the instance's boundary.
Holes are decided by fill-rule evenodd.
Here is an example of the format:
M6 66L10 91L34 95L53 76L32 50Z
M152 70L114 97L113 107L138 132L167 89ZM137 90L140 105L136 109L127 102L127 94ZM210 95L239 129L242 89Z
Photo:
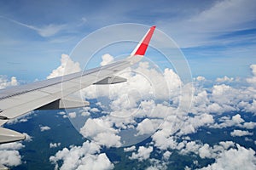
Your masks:
M113 100L110 105L116 111L130 109L143 99L169 99L180 92L182 84L177 74L172 69L165 69L164 73L157 68L150 68L148 61L140 62L136 69L127 68L117 76L125 77L129 82L109 86L90 86L82 90L86 98L108 97ZM104 103L104 102L102 102Z

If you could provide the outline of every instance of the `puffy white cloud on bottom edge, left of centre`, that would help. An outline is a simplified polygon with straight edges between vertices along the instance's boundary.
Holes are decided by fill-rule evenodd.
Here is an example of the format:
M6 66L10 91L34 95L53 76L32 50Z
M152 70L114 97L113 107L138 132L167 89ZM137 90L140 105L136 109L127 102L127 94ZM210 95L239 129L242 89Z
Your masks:
M101 147L93 142L86 141L82 146L71 146L70 149L59 150L55 156L50 156L49 161L55 164L55 168L61 170L113 169L113 164L105 153L100 153ZM61 165L58 161L63 161Z

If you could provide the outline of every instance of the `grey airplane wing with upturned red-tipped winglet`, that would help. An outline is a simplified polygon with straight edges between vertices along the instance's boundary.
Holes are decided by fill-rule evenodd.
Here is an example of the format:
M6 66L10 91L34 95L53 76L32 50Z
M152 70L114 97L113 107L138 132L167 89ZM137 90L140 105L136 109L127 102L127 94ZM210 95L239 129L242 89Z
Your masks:
M48 80L0 90L0 126L10 119L33 110L76 108L88 105L86 101L68 99L68 95L92 84L113 84L125 82L114 75L143 58L154 33L152 26L131 55L109 65L55 77ZM65 98L64 98L65 97ZM0 127L0 144L25 139L21 133Z

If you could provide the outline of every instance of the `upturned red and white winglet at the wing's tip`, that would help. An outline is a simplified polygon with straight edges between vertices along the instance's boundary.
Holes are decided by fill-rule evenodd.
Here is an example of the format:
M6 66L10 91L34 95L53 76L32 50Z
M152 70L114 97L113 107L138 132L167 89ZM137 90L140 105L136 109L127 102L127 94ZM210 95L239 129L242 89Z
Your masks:
M144 55L148 48L148 43L154 33L155 26L151 26L146 35L143 37L142 41L137 45L137 47L133 50L131 55Z

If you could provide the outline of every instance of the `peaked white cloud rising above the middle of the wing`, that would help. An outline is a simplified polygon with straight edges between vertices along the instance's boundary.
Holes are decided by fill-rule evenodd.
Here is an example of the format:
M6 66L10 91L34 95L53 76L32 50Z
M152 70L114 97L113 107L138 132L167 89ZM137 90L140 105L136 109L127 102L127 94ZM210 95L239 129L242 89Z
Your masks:
M61 65L53 70L47 79L61 77L79 71L81 71L81 68L78 62L74 62L67 54L61 54Z

